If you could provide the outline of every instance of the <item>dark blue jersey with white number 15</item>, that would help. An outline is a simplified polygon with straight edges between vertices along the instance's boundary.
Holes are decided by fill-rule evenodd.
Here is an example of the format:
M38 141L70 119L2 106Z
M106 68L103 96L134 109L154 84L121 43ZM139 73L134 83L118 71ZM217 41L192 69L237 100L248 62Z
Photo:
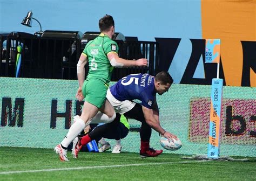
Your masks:
M138 99L142 106L152 109L154 96L154 76L150 74L131 74L110 87L110 92L119 101Z

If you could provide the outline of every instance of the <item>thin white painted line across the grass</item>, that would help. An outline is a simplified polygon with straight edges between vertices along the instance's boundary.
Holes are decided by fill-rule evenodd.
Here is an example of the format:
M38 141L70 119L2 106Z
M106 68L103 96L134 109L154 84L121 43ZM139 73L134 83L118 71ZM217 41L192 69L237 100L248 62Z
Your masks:
M127 165L102 165L102 166L83 166L83 167L75 167L75 168L6 171L6 172L0 172L0 175L7 175L7 174L13 174L13 173L34 173L34 172L51 172L51 171L64 171L64 170L105 169L105 168L116 168L116 167L125 167L125 166L144 166L144 165L161 165L161 164L194 163L194 162L208 162L208 161L203 160L203 161L182 161L182 162L161 162L161 163L137 163L137 164L127 164Z

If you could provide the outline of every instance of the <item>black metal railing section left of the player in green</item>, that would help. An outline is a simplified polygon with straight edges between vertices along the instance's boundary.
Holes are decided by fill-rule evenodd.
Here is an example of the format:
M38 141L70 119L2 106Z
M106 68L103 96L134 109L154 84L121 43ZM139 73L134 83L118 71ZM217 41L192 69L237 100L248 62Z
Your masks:
M72 48L75 44L75 49ZM10 33L6 38L4 72L1 76L15 76L17 46L22 48L19 77L76 79L80 40L77 38L36 37L27 33Z

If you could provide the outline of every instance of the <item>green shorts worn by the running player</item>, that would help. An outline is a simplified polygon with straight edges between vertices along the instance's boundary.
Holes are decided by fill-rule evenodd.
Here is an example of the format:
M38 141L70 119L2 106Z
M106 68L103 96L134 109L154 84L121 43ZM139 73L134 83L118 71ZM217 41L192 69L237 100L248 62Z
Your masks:
M85 80L82 87L85 101L98 108L102 107L106 99L107 88L107 85L100 80Z

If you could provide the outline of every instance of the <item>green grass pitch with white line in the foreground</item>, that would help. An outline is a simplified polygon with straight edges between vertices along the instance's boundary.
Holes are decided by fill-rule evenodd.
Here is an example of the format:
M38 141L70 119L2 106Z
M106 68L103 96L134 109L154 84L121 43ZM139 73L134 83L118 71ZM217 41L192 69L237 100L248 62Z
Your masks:
M128 152L80 152L78 159L68 152L68 157L70 162L60 162L53 149L0 147L0 180L256 180L252 157L247 162L173 154L142 159Z

